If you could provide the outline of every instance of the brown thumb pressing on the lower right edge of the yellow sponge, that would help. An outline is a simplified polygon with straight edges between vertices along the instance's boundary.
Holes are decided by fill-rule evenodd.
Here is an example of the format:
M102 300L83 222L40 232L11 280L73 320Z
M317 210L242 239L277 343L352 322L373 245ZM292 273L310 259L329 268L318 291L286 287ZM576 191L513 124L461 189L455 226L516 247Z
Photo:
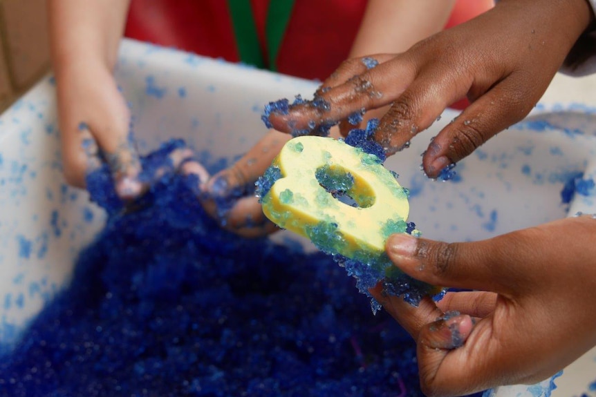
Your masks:
M386 249L393 264L417 280L440 287L505 292L500 265L508 258L493 240L447 243L394 234Z

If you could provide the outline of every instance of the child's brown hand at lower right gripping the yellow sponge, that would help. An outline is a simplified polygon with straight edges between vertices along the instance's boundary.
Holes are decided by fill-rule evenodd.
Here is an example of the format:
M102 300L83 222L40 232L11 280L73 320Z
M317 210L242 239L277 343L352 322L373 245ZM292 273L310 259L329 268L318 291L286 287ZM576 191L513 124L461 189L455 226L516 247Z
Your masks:
M416 340L422 391L534 383L596 345L595 235L596 219L584 215L480 242L391 236L387 253L405 273L476 290L419 307L372 291Z

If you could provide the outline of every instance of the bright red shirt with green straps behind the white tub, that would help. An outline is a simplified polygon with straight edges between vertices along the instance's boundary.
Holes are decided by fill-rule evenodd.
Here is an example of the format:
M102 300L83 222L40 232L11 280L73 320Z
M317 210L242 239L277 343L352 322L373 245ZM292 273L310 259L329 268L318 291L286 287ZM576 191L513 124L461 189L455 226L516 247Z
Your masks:
M264 43L269 1L250 0L263 52L267 50ZM277 70L306 79L326 79L348 57L366 1L295 1L277 55ZM458 0L447 27L486 9L487 1ZM124 35L207 57L240 61L225 0L132 0Z

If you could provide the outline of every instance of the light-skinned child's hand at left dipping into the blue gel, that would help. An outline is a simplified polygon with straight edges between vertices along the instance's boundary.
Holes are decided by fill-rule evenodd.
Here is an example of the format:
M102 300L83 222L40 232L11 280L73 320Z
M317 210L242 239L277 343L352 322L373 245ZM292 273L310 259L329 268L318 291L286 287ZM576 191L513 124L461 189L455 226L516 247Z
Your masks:
M64 176L68 184L83 187L96 157L89 153L97 142L109 164L115 189L124 200L140 195L136 179L140 163L128 139L129 110L111 72L102 64L82 59L56 76Z

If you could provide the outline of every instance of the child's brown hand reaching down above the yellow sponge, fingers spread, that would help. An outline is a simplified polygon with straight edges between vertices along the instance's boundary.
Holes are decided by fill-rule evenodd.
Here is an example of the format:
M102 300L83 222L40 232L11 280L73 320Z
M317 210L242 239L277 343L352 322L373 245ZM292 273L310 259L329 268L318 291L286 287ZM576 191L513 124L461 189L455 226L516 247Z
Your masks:
M330 105L272 113L277 130L313 129L362 109L391 104L375 139L388 154L407 146L458 99L472 104L429 145L422 164L436 177L483 142L525 117L593 14L585 0L503 0L485 14L420 41L380 64L346 61L319 90ZM309 126L310 124L310 126ZM345 131L344 131L345 132Z

